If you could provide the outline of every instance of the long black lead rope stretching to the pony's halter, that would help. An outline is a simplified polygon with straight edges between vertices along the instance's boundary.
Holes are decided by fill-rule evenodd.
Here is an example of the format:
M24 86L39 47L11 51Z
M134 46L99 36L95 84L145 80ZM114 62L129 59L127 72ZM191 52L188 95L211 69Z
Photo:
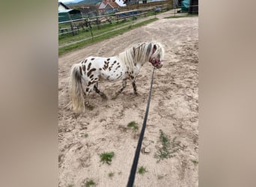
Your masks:
M153 68L153 72L155 71L155 69L156 69L156 67ZM127 187L132 187L133 183L134 183L134 180L135 180L135 174L136 174L137 165L138 165L138 157L139 157L139 153L140 153L140 150L141 150L141 144L142 144L142 140L143 140L143 137L144 137L144 132L145 132L145 129L146 129L147 114L148 114L148 110L149 110L149 106L150 106L152 85L153 85L153 73L152 73L152 77L151 77L150 91L148 93L147 108L146 108L144 121L143 121L142 129L141 129L141 134L139 135L139 138L138 138L138 144L137 144L137 148L136 148L136 151L135 151L135 156L134 156L133 163L132 163L132 169L131 169L131 172L129 173L129 180L128 180L128 183L127 183Z

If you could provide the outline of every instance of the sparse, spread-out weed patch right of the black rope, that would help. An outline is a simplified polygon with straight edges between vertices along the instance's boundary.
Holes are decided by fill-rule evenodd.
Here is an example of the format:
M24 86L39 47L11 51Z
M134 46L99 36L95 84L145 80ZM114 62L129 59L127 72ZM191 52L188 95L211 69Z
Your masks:
M180 142L176 141L177 137L174 137L172 140L170 140L168 136L162 132L162 129L160 129L159 132L159 141L161 142L162 147L159 148L155 154L155 158L158 159L157 162L160 162L162 159L174 157L174 153L176 153L180 148Z

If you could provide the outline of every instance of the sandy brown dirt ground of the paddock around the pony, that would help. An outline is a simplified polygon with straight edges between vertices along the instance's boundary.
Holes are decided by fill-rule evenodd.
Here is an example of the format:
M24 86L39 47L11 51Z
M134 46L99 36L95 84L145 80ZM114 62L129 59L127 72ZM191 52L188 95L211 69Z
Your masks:
M138 95L127 82L117 99L111 99L121 82L99 83L108 100L91 93L93 110L76 115L68 107L69 76L72 64L94 55L109 57L123 52L132 43L156 40L165 48L163 67L155 71L153 93L135 186L198 186L198 17L164 19L169 12L157 15L158 21L125 34L104 40L59 58L58 67L58 140L59 186L84 186L94 180L96 186L127 186L129 171L144 119L150 88L152 66L144 64L137 79ZM135 121L134 132L127 123ZM161 144L159 129L169 139L180 142L175 156L156 162ZM88 135L87 137L85 137ZM115 152L111 165L100 162L100 153ZM109 173L114 173L109 177Z

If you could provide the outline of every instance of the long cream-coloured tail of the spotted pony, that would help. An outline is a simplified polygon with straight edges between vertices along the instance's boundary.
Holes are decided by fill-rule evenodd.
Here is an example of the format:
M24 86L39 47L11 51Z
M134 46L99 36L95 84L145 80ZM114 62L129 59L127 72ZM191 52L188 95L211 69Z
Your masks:
M71 102L73 111L79 113L85 110L85 94L82 88L82 75L79 64L74 64L71 68L70 87Z

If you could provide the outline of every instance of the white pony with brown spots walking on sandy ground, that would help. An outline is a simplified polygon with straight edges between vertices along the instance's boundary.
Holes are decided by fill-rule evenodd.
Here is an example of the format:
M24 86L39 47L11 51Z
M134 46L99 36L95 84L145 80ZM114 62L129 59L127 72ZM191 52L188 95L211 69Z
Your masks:
M149 61L153 67L161 68L165 50L161 43L143 42L136 43L112 57L94 57L89 56L80 61L79 64L73 64L70 73L70 95L73 111L85 111L85 96L94 90L103 99L107 99L105 93L99 90L98 82L100 79L106 79L111 82L122 80L122 87L115 93L118 96L127 85L127 79L132 80L132 88L137 94L136 77L145 62ZM85 82L85 91L82 87L82 79Z

